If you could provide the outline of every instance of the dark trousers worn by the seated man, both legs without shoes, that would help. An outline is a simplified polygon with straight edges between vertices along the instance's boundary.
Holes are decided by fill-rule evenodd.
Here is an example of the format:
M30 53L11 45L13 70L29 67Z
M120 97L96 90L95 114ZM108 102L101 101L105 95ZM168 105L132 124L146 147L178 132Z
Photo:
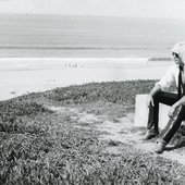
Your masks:
M155 107L149 108L148 125L147 128L151 132L159 133L159 103L172 106L178 100L176 94L160 91L153 96ZM168 113L168 112L166 112ZM181 126L182 121L185 120L185 107L180 107L173 116L166 123L165 128L161 132L161 138L169 143L173 135Z

